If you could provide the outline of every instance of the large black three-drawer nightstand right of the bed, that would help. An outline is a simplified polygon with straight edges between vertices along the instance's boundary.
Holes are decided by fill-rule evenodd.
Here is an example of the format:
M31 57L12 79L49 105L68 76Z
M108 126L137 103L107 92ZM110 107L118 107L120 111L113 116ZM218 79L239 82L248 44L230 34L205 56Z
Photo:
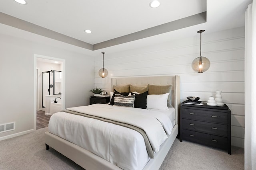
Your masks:
M226 106L181 104L180 141L224 149L231 154L231 111Z

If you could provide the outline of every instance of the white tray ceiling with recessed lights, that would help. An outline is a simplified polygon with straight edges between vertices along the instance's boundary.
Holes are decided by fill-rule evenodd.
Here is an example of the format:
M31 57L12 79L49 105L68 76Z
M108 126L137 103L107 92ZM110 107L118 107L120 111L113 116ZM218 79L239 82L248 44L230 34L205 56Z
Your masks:
M51 30L51 35L55 32L60 33L71 37L72 40L85 43L89 45L88 47L90 45L96 47L102 43L110 44L96 49L95 52L92 51L93 49L73 44L78 46L74 48L83 51L82 53L94 55L102 49L118 51L195 36L196 31L200 29L205 29L205 33L211 33L244 26L244 12L248 4L252 2L252 0L159 1L158 8L150 8L151 0L72 0L69 2L67 0L26 0L26 5L18 4L14 0L1 0L0 12L20 19L19 23L21 20L27 21ZM204 23L183 28L173 27L159 33L157 31L157 29L162 29L159 25L182 20L202 12L207 13L207 21ZM0 19L1 21L4 23ZM172 26L169 25L169 27ZM85 29L90 29L92 33L85 33ZM2 25L0 31L8 34L12 30ZM20 30L13 30L15 31ZM26 31L30 34L26 37L32 39L32 33ZM142 38L134 34L137 32L141 34L145 31L150 33ZM124 37L128 40L122 41ZM116 40L120 43L116 43Z

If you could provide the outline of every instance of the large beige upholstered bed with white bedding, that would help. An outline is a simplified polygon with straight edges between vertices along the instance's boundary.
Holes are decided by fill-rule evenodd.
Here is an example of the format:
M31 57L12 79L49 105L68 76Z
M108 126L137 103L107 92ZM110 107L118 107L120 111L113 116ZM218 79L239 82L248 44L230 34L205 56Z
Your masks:
M55 113L56 116L54 115L54 117L56 117L56 118L54 118L53 116L52 116L53 118L51 117L52 120L50 120L50 122L52 122L52 123L49 122L49 131L45 133L46 149L49 149L50 147L52 147L53 149L57 150L64 156L70 158L71 160L73 160L74 162L76 162L78 165L82 166L86 170L102 170L102 169L104 169L104 170L121 170L121 169L156 170L156 169L159 169L166 154L170 150L170 147L172 146L174 139L178 135L178 113L179 113L178 108L180 105L179 76L112 78L112 92L114 92L114 89L118 90L118 87L124 87L127 85L129 85L130 87L132 87L132 86L133 87L145 87L145 86L148 86L149 84L152 85L152 87L172 85L170 87L170 95L168 96L168 100L169 100L168 102L170 102L171 106L168 106L167 110L162 110L162 111L160 111L161 113L158 113L159 111L154 108L153 109L140 109L140 108L137 109L137 108L130 108L130 107L123 108L120 106L109 106L108 104L95 104L95 105L84 106L84 107L73 107L73 108L70 108L70 110L68 110L67 112L75 111L76 113L80 113L83 111L84 108L86 108L86 111L95 112L95 114L99 114L99 115L97 115L98 117L104 118L105 115L110 116L110 113L112 111L108 111L108 110L114 109L115 111L124 112L124 113L127 112L128 114L130 114L131 109L134 109L135 110L134 116L131 116L134 119L131 118L131 120L129 120L130 118L129 119L126 119L127 117L125 118L126 121L128 121L128 123L129 123L129 121L136 122L137 118L135 118L136 117L135 114L137 114L137 113L140 114L140 116L138 116L138 117L142 117L142 119L148 119L146 117L143 117L145 114L147 114L146 113L147 110L151 111L152 114L157 113L157 115L163 115L163 116L167 115L168 117L170 117L170 121L172 122L172 123L170 123L170 124L172 124L172 128L169 129L169 131L168 131L168 127L166 127L166 129L164 129L164 131L166 132L167 139L165 139L163 137L164 142L158 143L159 145L158 144L155 145L154 142L150 141L154 138L148 137L150 143L151 142L153 143L153 145L151 144L151 146L153 146L152 147L153 154L152 154L152 151L151 152L148 151L149 147L147 145L144 146L146 142L142 146L140 140L137 140L137 138L136 138L136 142L134 142L134 143L135 143L135 145L140 146L139 147L140 149L137 149L137 148L136 149L134 149L134 148L127 149L127 150L129 150L129 153L127 152L127 155L119 154L118 150L122 150L121 147L126 148L125 143L127 143L127 147L128 147L128 145L133 146L132 144L130 144L130 142L124 142L124 143L120 142L120 144L118 144L119 143L119 141L118 141L113 144L110 141L108 145L110 145L111 150L109 148L106 149L106 148L100 146L100 149L98 149L97 151L94 151L94 150L92 151L90 147L87 147L87 146L84 147L85 142L83 142L83 141L79 142L79 139L81 139L82 135L78 135L78 138L79 138L78 142L72 141L73 140L72 138L74 138L74 137L72 137L74 131L75 132L78 131L77 129L74 129L74 128L76 126L78 126L79 122L77 122L75 124L71 124L71 126L69 127L68 125L70 125L70 122L67 122L65 119L62 120L62 119L57 118L58 115L61 114L61 115L65 115L64 117L69 117L68 119L75 120L75 119L77 119L76 116L81 116L81 115L70 114L70 113L63 112L63 111L61 111L59 113ZM130 89L130 90L132 90L132 89ZM133 92L133 91L130 91L130 92ZM154 95L151 95L151 96L154 96ZM155 95L155 96L159 96L159 95ZM136 99L136 97L135 97L135 99ZM105 115L103 113L101 113L102 109L104 110L104 113L106 113ZM113 119L116 119L115 114L112 117L113 117ZM82 118L82 119L84 119L84 118ZM112 127L111 122L109 123L109 122L105 122L105 120L98 120L98 119L94 120L93 117L89 117L89 118L86 117L85 119L89 119L89 120L86 120L85 123L82 122L80 124L88 124L89 125L95 121L98 123L99 122L101 123L103 121L103 123L106 124L106 126L110 126L110 124L111 124L112 129L115 129L116 128L115 126L119 126L119 125L113 125L113 127ZM160 119L160 118L157 118L157 119ZM79 121L81 121L81 118L79 118ZM148 120L148 123L150 121L151 120ZM152 121L154 121L154 120L152 120ZM63 124L63 123L57 124L57 122L66 122L66 124ZM152 123L152 124L154 124L154 126L155 126L156 123ZM59 130L58 129L54 130L52 128L53 126L58 126ZM123 125L121 125L121 126L123 126ZM101 125L99 127L101 127ZM89 128L91 128L91 127L87 127L87 129L89 129ZM62 129L65 129L65 130L62 131ZM107 133L108 133L108 131L109 130L107 130ZM121 135L123 135L124 138L130 139L130 137L127 135L130 133L136 134L138 136L138 139L142 138L141 136L143 136L143 135L138 135L137 131L133 132L134 129L130 129L125 126L121 127L121 130L119 130L119 131L120 131L119 133ZM122 134L122 132L124 134ZM145 130L145 132L147 133L147 135L150 136L151 130L150 131ZM84 132L82 132L82 133L84 133ZM106 131L105 131L105 133L106 133ZM67 134L69 134L69 135L67 135ZM80 134L80 133L78 133L78 134ZM85 133L85 134L87 134L87 133ZM94 133L90 134L90 135L94 135ZM114 136L113 134L110 134L110 135ZM154 136L153 131L152 131L151 135ZM94 139L95 137L87 136L87 138ZM96 140L97 143L99 141L102 141L102 143L108 143L108 141L104 141L104 139L102 137L99 137L99 138L100 139ZM95 139L97 139L97 138L95 138ZM114 138L114 139L117 140L116 138ZM81 139L81 140L84 140L84 139ZM145 141L146 141L146 139L145 139ZM119 145L119 146L117 146L119 148L112 150L112 148L116 147L116 145ZM86 148L86 149L84 149L84 148ZM134 152L131 151L131 153L130 153L130 150L133 150ZM142 150L142 151L140 151L140 150ZM108 152L108 153L106 154L106 152ZM109 155L109 152L112 153L111 158L108 158L109 156L106 156L106 155ZM115 152L116 152L116 154L115 154ZM145 152L146 152L146 154L145 154ZM129 155L132 158L134 153L139 157L138 159L134 158L134 159L136 159L135 162L138 165L126 167L127 165L122 166L122 163L118 162L118 161L122 161L122 160L125 161L126 158L127 158L127 161L129 162L130 161ZM136 156L134 156L134 157L136 157ZM142 158L142 160L141 160L141 158ZM118 160L115 160L115 159L118 159ZM133 164L133 162L131 164Z

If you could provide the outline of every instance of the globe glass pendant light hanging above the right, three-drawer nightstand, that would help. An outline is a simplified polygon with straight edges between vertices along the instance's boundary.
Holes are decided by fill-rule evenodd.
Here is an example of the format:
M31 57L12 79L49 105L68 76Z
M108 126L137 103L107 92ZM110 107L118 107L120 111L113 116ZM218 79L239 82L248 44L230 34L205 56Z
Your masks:
M202 32L204 30L197 31L197 33L200 33L200 57L194 59L191 64L192 69L198 73L203 73L210 67L210 61L206 57L201 56Z

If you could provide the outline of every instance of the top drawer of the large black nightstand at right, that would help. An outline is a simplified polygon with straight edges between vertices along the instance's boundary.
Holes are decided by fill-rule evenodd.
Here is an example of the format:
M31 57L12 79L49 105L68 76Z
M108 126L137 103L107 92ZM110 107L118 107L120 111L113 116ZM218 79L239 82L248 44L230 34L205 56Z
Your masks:
M228 113L182 108L182 118L228 124Z

